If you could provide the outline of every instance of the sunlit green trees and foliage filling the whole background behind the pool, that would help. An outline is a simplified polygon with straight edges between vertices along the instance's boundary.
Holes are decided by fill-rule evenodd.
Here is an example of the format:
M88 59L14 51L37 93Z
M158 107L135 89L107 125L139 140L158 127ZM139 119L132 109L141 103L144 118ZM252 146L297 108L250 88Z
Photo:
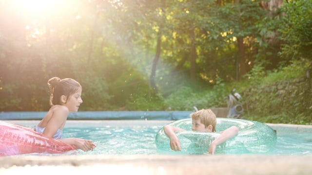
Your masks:
M66 0L39 14L4 0L0 110L48 110L46 82L58 76L81 83L80 110L220 107L236 88L246 118L311 123L311 93L277 93L275 86L311 69L311 0L291 0L276 11L260 8L260 0L121 1ZM155 92L149 78L158 36ZM247 67L241 82L235 81L238 52Z

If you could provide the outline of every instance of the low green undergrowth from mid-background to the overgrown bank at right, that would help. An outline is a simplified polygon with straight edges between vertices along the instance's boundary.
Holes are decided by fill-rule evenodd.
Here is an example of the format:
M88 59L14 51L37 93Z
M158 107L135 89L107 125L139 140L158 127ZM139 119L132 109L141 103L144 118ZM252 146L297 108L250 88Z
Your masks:
M280 70L264 71L255 67L242 82L224 83L217 79L213 88L198 91L181 87L168 98L165 105L170 110L194 110L226 106L226 97L232 88L242 95L245 119L263 123L312 124L311 79L306 79L305 70L312 62L307 59L292 61Z

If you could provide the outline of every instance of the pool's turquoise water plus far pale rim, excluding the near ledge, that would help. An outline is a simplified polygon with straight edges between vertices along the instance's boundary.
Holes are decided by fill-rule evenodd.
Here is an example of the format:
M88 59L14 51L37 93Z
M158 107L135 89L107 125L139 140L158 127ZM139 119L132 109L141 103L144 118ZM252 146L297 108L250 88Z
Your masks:
M26 126L39 123L39 121L10 122ZM157 131L163 125L171 122L146 120L67 121L63 130L63 138L82 138L93 140L97 144L95 150L90 152L78 150L75 153L77 155L175 155L179 154L179 152L161 152L156 149L155 144ZM270 151L258 154L312 155L312 127L282 124L268 125L276 130L277 142ZM251 153L232 152L231 154Z

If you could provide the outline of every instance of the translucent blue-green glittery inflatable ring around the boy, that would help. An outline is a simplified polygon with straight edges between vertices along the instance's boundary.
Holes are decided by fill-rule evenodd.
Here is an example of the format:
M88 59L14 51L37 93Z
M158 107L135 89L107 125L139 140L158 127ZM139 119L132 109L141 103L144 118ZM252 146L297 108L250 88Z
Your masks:
M239 132L233 138L217 146L215 154L249 154L266 153L276 143L276 132L264 123L242 120L217 118L216 132L192 131L192 119L178 120L169 123L186 131L176 132L180 140L181 151L170 148L170 140L163 127L156 134L156 147L159 154L207 154L210 143L223 131L231 126L237 126Z

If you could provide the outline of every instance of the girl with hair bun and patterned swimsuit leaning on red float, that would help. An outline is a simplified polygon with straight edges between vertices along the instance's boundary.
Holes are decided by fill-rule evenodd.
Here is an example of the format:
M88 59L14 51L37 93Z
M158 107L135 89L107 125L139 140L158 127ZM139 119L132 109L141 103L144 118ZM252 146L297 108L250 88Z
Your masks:
M40 123L35 126L35 131L74 145L77 149L83 151L93 150L96 144L91 140L78 138L60 139L67 115L69 112L77 112L79 105L82 103L82 88L80 84L71 78L61 80L58 77L53 77L48 81L48 86L51 90L51 108Z

